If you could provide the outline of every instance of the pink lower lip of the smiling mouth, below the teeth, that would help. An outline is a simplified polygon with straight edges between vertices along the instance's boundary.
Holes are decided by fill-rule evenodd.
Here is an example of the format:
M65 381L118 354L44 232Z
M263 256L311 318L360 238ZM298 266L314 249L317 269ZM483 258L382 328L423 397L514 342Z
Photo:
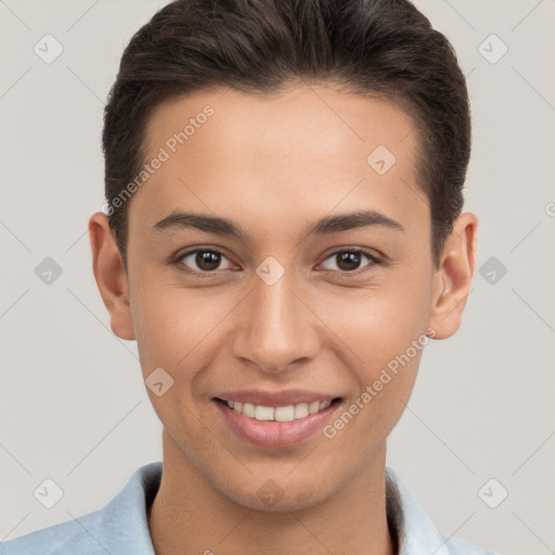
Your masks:
M257 421L230 409L221 401L214 401L230 428L242 439L268 449L282 449L307 440L325 426L341 404L333 402L323 411L291 422Z

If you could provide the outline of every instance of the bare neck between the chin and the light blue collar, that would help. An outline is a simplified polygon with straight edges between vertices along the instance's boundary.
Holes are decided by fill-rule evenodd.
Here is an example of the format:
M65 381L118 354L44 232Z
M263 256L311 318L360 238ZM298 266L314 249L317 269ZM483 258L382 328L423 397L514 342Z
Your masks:
M395 555L386 514L385 444L330 498L298 511L254 511L217 491L164 431L164 472L149 512L156 555Z

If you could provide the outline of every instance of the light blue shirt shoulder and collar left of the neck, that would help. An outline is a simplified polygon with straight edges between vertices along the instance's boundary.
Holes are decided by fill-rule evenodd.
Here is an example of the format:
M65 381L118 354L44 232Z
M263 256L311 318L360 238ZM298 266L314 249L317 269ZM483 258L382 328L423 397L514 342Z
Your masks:
M0 543L0 555L153 555L146 511L162 462L138 468L103 508Z

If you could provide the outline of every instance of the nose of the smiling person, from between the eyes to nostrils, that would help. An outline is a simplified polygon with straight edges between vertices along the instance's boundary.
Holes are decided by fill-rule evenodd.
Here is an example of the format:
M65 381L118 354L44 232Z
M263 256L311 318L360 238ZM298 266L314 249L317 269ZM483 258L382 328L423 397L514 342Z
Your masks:
M269 374L314 358L320 348L317 318L307 308L310 304L302 293L294 289L287 272L273 285L257 276L254 287L240 308L234 356Z

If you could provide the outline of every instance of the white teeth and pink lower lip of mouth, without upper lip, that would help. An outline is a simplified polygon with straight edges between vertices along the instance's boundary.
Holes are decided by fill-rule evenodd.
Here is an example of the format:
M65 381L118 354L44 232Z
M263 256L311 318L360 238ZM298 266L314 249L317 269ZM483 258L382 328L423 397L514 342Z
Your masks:
M224 425L236 439L278 450L294 447L322 434L341 406L343 398L271 406L214 398Z

